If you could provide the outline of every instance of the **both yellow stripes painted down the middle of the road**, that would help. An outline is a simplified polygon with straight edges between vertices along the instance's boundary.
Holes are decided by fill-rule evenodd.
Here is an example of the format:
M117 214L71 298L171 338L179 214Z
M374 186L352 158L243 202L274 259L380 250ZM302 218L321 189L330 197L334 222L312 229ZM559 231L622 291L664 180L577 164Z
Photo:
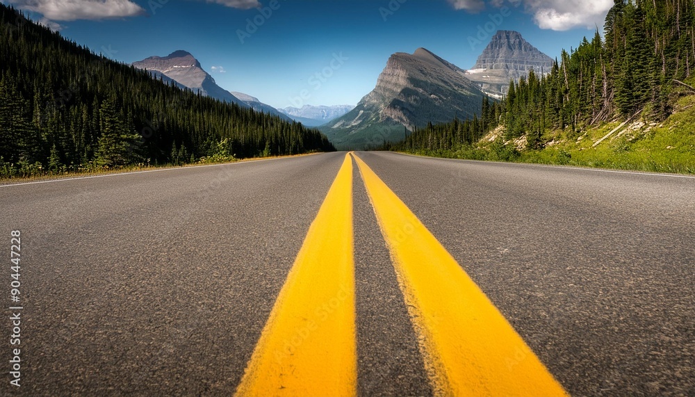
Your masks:
M357 395L352 157L439 396L566 396L500 311L353 153L318 211L237 396Z

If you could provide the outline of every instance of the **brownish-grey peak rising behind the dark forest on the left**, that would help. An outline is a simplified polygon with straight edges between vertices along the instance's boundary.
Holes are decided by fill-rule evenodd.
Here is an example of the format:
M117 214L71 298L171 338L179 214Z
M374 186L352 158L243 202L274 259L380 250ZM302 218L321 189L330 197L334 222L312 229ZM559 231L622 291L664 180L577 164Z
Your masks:
M202 95L230 104L250 107L246 102L232 95L231 92L218 86L213 76L203 70L198 60L186 51L174 51L163 57L151 56L138 62L133 62L133 66L138 69L149 70L153 76L167 76L177 83L190 88L193 92L200 92Z

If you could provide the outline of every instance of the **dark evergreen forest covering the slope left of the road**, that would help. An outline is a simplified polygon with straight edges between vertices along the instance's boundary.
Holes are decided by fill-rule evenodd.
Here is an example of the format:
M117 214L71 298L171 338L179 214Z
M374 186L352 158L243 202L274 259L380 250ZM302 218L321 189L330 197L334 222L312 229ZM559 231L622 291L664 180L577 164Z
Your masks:
M0 173L335 150L315 129L98 56L0 4Z

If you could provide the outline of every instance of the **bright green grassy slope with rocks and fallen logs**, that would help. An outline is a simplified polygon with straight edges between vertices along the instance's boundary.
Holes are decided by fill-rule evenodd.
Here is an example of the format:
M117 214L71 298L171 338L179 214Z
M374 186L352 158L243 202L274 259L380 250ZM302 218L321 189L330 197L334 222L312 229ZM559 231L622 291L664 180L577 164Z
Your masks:
M635 118L594 147L620 124L610 122L576 132L547 132L543 140L548 143L540 150L526 149L524 137L503 141L500 128L473 146L414 153L456 159L695 174L695 95L680 98L674 113L664 122Z

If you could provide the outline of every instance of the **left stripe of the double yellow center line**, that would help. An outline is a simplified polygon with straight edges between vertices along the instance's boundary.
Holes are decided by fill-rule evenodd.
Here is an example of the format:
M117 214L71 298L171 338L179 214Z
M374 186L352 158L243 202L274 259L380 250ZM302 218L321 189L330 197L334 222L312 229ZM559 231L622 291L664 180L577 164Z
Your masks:
M237 396L355 396L352 159L306 234Z

